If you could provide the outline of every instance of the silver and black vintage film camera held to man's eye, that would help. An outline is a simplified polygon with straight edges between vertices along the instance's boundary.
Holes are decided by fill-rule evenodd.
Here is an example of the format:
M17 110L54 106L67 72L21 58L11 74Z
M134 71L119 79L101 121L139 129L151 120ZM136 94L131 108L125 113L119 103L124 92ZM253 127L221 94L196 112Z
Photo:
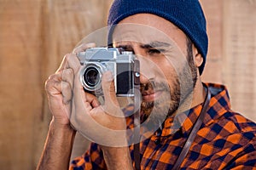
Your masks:
M83 68L80 82L84 90L98 96L102 93L102 74L112 71L115 92L120 97L133 97L140 85L139 60L122 48L88 48L77 54Z

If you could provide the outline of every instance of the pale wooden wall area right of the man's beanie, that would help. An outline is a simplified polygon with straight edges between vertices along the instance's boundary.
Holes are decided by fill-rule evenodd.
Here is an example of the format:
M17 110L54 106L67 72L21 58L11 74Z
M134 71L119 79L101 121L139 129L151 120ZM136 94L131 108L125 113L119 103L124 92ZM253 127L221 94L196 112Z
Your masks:
M256 1L201 0L209 54L202 78L227 86L234 111L256 121Z

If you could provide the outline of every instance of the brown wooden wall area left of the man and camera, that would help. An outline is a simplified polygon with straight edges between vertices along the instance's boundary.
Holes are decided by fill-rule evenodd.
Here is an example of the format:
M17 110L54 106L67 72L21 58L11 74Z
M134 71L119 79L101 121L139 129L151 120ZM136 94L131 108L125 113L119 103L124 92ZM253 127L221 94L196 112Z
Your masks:
M0 168L35 169L50 114L44 81L106 26L109 0L0 0Z

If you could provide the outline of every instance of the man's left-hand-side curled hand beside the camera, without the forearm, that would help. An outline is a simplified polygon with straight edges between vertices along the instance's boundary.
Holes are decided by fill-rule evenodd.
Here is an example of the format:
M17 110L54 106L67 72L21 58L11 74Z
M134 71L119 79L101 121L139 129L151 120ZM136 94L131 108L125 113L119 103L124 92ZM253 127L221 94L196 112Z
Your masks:
M73 67L79 70L80 65L71 62L76 58L77 53L92 47L95 47L95 43L82 44L78 48L75 48L72 54L66 54L59 69L45 82L45 90L49 100L49 110L53 115L53 122L56 124L70 124L68 116L70 116L71 112L68 110L70 108L67 104L72 98L74 71L69 65L74 64ZM68 60L70 61L68 62Z

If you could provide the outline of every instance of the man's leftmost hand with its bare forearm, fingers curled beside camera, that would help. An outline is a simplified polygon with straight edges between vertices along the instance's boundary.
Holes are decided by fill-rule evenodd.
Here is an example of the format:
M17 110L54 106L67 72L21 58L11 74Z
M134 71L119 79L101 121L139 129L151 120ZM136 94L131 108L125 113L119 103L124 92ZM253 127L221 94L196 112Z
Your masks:
M76 58L76 53L86 48L94 47L94 43L83 44L67 54L62 60L60 68L49 77L45 89L49 99L49 109L53 115L49 125L49 133L45 142L39 169L68 169L75 131L70 126L70 99L73 96L74 70L69 67L73 63L69 59ZM79 69L80 65L76 65Z

